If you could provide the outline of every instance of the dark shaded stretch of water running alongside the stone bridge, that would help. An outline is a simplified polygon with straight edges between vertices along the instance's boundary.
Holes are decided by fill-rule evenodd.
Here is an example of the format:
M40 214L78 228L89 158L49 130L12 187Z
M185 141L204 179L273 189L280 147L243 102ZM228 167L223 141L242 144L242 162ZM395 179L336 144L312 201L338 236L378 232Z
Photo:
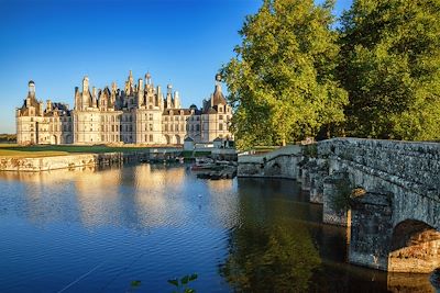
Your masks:
M386 273L346 262L346 228L323 225L287 180L239 179L239 223L220 274L237 292L436 292L427 274Z

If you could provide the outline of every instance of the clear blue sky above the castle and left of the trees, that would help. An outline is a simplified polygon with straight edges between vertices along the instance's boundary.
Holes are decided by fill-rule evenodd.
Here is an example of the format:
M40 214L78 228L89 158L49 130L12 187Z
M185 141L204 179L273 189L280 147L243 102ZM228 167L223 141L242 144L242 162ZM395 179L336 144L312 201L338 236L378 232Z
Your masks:
M319 0L317 2L322 2ZM338 0L336 13L352 0ZM15 132L14 110L35 81L37 99L73 108L74 88L120 88L152 74L184 106L201 104L215 75L234 56L244 16L260 0L0 0L0 133ZM223 87L224 88L224 87Z

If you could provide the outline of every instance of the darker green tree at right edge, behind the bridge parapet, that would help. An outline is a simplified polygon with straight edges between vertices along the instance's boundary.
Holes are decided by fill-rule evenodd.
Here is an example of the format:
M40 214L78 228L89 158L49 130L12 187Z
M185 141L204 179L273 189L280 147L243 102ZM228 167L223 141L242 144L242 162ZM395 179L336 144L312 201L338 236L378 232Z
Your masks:
M439 0L354 0L340 29L350 135L439 139Z

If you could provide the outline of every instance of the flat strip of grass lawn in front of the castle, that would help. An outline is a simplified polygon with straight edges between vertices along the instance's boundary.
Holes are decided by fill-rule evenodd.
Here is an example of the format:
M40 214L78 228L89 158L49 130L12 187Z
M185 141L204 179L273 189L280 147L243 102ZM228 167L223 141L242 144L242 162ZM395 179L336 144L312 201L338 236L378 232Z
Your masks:
M0 144L0 157L50 157L64 156L69 154L100 154L100 153L130 153L145 150L148 147L113 147L113 146L56 146L56 145L35 145L35 146L19 146L14 144Z

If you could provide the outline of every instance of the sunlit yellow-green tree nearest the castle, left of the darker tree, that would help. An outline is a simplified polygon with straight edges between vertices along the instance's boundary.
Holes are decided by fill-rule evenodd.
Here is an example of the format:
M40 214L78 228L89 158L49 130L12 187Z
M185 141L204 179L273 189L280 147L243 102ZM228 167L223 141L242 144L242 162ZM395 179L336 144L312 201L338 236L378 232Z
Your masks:
M348 98L334 77L332 7L265 0L246 16L237 56L222 68L239 147L284 145L344 121Z

